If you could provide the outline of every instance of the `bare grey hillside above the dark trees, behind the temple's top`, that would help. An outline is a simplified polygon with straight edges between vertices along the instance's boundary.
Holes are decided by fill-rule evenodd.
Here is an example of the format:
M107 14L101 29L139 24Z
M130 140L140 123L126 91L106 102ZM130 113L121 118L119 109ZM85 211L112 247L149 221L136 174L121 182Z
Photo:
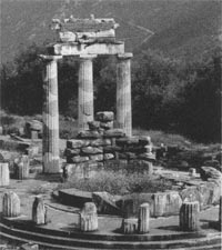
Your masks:
M117 34L127 51L152 48L198 57L219 44L219 0L1 0L1 61L12 60L32 42L56 40L52 18L90 13L120 23Z

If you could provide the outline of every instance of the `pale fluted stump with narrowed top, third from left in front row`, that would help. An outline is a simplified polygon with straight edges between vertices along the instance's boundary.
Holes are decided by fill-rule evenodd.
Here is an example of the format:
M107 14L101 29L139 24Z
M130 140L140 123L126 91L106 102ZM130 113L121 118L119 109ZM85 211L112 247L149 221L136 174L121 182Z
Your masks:
M97 207L93 202L85 202L80 213L80 230L91 232L98 230Z

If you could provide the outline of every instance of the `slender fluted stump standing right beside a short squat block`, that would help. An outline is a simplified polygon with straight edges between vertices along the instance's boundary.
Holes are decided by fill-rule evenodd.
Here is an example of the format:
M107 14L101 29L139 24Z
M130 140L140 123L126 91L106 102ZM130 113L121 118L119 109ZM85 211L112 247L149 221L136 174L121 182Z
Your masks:
M147 233L150 230L150 204L143 203L140 206L138 218L138 232Z

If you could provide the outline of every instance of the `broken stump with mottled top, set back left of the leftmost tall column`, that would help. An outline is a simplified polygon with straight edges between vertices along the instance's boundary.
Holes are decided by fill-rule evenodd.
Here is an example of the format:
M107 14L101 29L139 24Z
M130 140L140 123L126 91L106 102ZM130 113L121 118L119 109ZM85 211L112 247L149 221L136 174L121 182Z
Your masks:
M14 178L17 180L23 180L29 178L29 157L23 154L20 158L14 159Z

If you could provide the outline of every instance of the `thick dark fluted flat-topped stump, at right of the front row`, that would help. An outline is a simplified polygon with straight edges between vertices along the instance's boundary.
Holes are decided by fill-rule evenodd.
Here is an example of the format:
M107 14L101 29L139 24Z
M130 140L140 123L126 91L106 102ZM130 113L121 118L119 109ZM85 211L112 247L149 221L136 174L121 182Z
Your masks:
M199 202L184 202L180 209L180 229L182 231L198 231L199 226Z

